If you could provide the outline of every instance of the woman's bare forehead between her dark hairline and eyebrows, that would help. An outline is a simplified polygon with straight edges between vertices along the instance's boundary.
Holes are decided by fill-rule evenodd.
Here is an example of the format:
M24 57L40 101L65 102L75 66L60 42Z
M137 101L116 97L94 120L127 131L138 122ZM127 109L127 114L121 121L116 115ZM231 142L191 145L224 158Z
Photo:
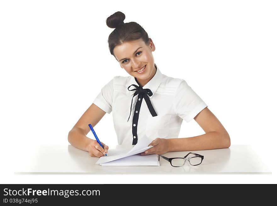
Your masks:
M117 45L114 48L114 55L116 56L117 60L121 60L123 58L128 58L133 56L133 53L139 47L145 47L145 43L142 39L135 40L135 41L127 41L122 43L121 45Z

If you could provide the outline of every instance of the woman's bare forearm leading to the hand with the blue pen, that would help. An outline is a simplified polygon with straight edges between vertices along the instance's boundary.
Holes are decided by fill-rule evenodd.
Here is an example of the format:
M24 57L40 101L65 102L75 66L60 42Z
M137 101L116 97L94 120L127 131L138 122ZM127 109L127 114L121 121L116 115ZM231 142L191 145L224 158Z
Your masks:
M86 136L81 128L73 128L68 133L68 142L80 150L88 151L87 147L90 141L91 139Z

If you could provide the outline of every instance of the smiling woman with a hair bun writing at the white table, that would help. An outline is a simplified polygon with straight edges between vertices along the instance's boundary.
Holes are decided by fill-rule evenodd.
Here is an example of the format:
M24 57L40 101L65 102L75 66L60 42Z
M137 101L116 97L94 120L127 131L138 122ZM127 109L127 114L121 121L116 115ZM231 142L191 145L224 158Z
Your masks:
M118 144L135 145L144 135L153 140L153 147L141 155L229 147L228 132L206 103L184 79L161 73L154 62L153 40L138 23L124 23L124 19L122 12L116 12L106 24L115 28L108 38L110 53L129 76L116 76L101 89L69 132L71 145L91 156L104 156L109 147L102 143L102 148L86 136L88 124L94 127L105 113L113 111ZM192 119L206 134L178 138L182 121Z

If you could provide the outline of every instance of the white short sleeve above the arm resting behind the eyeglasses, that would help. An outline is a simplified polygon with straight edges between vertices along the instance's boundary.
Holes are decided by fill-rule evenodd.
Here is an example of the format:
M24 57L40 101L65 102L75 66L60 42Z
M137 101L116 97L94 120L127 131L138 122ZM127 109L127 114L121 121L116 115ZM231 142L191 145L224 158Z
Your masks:
M174 95L175 113L189 122L207 107L206 103L192 90L185 80L179 84Z

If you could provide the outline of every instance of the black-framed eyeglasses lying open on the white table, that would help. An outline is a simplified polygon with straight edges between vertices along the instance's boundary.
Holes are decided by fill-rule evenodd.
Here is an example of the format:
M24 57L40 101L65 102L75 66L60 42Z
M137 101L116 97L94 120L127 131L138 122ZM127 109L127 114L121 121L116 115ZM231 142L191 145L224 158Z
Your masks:
M190 154L194 155L192 157L188 157ZM164 158L165 160L169 161L171 166L173 167L180 167L180 166L183 166L185 164L186 161L189 161L189 164L190 165L200 165L204 159L204 156L203 155L199 155L199 154L196 154L196 153L192 153L192 152L189 152L186 156L184 157L174 157L174 158L168 158L168 157L165 157L165 156L162 156L162 155L159 155L159 161L160 161L160 156L162 158Z

